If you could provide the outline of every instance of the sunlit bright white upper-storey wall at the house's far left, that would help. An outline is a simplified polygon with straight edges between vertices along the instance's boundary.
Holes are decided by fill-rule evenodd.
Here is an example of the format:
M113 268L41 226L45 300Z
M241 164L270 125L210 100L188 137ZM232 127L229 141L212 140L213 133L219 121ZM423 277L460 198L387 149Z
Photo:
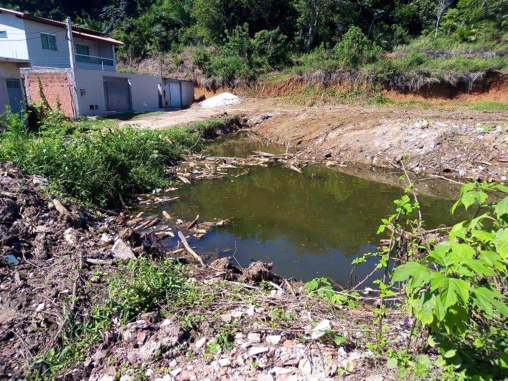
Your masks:
M12 13L0 13L0 30L7 31L7 39L0 39L0 56L7 58L28 59L26 39L34 35L26 35L23 20Z

